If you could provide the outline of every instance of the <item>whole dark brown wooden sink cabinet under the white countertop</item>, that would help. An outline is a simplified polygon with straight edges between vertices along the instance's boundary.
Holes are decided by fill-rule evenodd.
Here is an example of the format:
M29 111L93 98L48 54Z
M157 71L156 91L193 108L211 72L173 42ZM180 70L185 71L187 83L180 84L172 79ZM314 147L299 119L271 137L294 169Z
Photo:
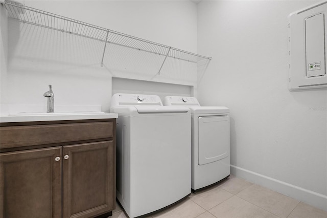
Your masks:
M0 218L109 215L115 208L114 124L1 123Z

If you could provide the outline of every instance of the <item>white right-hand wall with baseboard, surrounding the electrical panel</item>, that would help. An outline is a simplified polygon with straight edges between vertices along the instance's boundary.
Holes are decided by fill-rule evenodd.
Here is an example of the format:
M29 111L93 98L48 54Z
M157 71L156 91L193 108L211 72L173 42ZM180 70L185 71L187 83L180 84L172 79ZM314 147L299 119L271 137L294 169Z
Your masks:
M230 108L231 170L327 209L327 91L289 92L287 16L313 1L203 1L202 105Z

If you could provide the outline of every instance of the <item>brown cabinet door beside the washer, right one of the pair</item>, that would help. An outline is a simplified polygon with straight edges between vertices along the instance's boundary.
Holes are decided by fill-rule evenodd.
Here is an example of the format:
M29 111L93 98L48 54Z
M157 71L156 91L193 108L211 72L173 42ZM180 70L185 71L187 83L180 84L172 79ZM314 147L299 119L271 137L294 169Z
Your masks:
M92 217L115 207L113 141L63 146L63 218Z

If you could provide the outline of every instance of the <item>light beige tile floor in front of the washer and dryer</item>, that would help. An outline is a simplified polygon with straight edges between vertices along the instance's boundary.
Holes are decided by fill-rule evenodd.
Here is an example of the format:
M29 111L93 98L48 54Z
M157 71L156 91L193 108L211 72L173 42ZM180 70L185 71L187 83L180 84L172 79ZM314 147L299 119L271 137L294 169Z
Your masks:
M110 216L109 216L110 217ZM112 218L128 217L119 204ZM327 218L327 212L235 176L149 218Z

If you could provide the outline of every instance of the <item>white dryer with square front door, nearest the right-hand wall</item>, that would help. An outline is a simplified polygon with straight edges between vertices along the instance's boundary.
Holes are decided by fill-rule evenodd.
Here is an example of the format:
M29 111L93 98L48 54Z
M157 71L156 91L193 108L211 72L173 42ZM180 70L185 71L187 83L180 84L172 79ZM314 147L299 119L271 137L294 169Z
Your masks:
M192 190L219 182L230 174L229 109L200 106L194 97L166 96L164 105L185 106L192 117Z

